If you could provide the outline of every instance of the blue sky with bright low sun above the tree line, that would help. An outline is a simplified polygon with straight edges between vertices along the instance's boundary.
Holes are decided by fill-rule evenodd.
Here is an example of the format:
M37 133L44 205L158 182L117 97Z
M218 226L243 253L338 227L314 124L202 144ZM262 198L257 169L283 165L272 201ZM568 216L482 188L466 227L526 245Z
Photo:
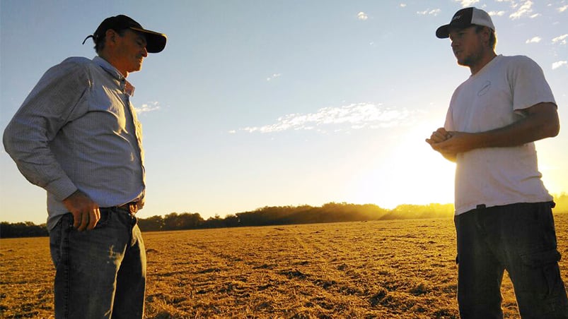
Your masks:
M492 16L497 53L535 60L561 131L537 142L568 192L568 0L0 0L0 130L48 68L95 56L83 39L126 14L168 35L128 80L144 126L142 218L265 206L453 203L455 164L424 142L470 75L436 28ZM45 222L45 191L0 148L0 220Z

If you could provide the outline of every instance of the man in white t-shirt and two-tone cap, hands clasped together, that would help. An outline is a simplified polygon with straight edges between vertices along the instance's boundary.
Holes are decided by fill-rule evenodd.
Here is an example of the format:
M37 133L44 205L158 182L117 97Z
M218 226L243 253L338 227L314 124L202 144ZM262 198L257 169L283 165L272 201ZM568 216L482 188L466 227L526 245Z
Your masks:
M557 136L557 105L533 60L495 54L494 32L489 15L477 8L458 11L436 30L471 71L453 92L444 128L427 139L457 164L460 316L503 318L507 270L523 318L568 318L554 203L533 143Z

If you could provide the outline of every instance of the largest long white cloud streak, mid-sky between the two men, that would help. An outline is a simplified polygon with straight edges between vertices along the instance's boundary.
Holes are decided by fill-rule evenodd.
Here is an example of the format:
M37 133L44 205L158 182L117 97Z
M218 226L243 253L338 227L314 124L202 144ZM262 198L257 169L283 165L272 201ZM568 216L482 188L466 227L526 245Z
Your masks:
M357 103L342 107L324 107L308 114L286 114L274 124L240 128L249 133L274 133L280 131L349 131L361 128L384 128L408 123L412 112L392 109L383 104ZM230 132L232 133L232 131Z

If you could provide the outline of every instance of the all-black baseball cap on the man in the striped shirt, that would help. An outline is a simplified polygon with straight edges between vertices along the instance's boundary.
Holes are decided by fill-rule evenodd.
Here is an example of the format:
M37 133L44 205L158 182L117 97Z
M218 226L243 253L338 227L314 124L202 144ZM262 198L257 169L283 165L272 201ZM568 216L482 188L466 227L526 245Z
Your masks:
M137 23L136 21L134 21L134 19L128 16L124 16L122 14L119 16L109 17L103 20L103 22L100 23L100 25L98 26L97 30L95 30L95 33L93 33L93 35L89 35L88 37L85 38L85 40L83 40L83 44L85 44L85 41L89 37L92 37L95 44L97 44L98 41L105 36L105 33L109 29L115 30L116 32L120 32L124 29L131 29L137 32L144 33L147 43L146 50L149 53L161 52L163 48L166 47L166 40L167 40L166 35L160 32L146 30L142 28L140 23Z

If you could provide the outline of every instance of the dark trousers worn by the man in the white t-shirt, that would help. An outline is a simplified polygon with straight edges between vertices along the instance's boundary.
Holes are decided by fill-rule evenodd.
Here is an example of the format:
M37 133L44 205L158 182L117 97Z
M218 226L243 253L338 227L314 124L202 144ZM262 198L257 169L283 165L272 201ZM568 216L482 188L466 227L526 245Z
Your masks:
M504 270L523 319L568 318L552 203L478 207L454 222L461 318L503 318Z

